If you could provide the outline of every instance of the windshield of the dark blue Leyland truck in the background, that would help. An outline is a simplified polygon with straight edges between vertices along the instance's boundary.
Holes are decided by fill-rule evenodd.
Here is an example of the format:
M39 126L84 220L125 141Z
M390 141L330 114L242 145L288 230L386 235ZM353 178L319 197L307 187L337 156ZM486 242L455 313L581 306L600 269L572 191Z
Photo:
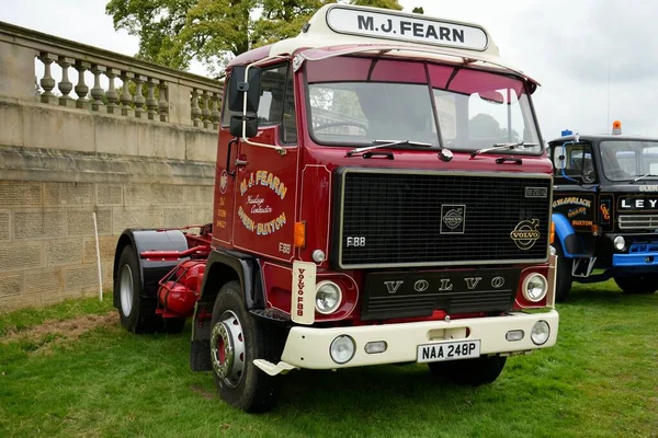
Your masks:
M658 180L658 141L605 140L599 149L608 180Z

